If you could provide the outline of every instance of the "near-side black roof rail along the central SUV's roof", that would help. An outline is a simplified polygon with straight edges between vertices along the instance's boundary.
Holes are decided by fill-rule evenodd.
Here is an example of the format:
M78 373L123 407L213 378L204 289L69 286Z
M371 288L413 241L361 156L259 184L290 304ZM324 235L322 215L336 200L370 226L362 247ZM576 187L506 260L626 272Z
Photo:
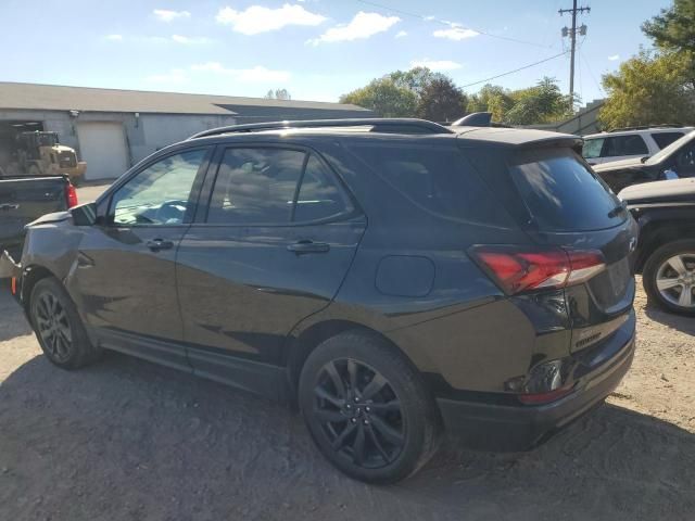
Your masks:
M362 127L371 126L372 132L394 134L455 134L448 128L426 119L406 117L370 117L355 119L307 119L301 122L250 123L247 125L231 125L229 127L211 128L191 136L188 139L207 138L222 134L258 132L263 130L279 130L283 128L321 128L321 127Z

